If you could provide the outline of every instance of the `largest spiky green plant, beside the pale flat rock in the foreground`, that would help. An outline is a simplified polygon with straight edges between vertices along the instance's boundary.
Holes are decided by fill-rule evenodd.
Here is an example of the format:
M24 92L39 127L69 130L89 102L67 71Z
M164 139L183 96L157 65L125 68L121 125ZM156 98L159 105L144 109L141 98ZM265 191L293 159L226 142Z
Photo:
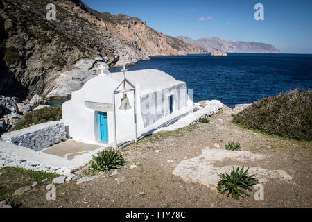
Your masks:
M227 195L231 194L232 198L239 200L239 196L243 197L249 196L245 190L252 191L251 187L256 185L259 181L254 175L248 175L248 169L244 171L244 166L235 170L234 168L231 171L231 174L220 173L218 176L221 178L218 182L218 194Z

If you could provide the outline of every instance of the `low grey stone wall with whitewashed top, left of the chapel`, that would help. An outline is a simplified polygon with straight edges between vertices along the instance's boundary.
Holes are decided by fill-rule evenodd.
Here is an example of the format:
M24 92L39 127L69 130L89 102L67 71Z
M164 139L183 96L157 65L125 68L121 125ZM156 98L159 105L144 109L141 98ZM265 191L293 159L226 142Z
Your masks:
M62 121L40 123L21 130L1 135L3 142L40 151L66 139L67 133Z

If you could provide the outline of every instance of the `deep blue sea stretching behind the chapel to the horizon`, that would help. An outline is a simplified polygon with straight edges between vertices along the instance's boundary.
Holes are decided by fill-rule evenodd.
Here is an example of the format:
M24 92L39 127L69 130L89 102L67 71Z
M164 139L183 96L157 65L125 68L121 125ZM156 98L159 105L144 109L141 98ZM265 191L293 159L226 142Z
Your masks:
M312 55L227 53L228 56L150 56L129 71L159 69L193 89L194 101L218 99L229 107L312 88ZM110 68L111 72L120 67Z

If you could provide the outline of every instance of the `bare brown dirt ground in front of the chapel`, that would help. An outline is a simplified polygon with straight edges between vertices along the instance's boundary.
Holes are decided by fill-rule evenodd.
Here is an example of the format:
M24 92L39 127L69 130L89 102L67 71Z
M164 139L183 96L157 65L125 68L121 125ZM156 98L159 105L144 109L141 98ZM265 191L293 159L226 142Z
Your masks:
M21 207L312 207L311 142L254 133L234 125L226 113L209 119L210 123L157 133L131 144L123 149L124 167L116 173L98 173L99 178L80 185L76 180L57 185L55 201L46 200L49 181L45 182L24 196ZM253 193L232 200L199 182L173 175L182 160L199 156L204 148L216 148L215 143L224 149L229 141L240 142L243 151L268 155L244 162L246 167L284 170L293 179L268 180L263 184L264 200L256 201ZM229 164L242 163L218 162L219 166ZM80 170L81 175L86 173L87 167Z

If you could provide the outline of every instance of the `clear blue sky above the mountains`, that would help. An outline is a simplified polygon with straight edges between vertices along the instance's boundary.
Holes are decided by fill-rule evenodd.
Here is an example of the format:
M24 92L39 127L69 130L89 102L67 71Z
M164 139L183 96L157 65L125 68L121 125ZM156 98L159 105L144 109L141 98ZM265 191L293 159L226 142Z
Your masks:
M312 53L312 0L85 0L90 8L112 15L139 17L150 28L173 37L264 42L281 53ZM264 20L255 20L256 3Z

